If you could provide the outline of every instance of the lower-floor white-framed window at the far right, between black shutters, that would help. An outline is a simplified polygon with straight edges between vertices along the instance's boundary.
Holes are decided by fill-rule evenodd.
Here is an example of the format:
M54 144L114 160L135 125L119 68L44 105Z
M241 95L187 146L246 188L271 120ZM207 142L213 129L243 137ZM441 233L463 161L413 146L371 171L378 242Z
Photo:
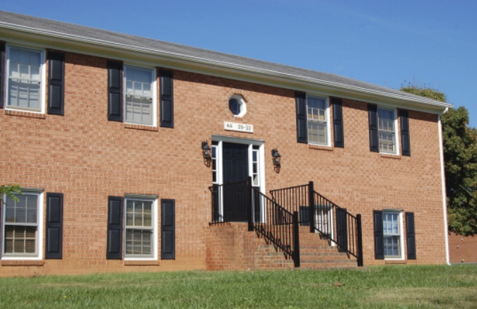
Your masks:
M404 258L404 240L403 240L403 218L399 210L383 210L382 229L384 236L384 258L385 259L403 259Z

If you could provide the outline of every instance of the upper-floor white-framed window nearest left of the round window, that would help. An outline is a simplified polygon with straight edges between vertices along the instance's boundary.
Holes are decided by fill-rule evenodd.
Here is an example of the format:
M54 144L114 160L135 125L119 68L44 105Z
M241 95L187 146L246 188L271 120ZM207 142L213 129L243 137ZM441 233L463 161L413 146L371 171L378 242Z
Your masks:
M155 126L155 70L124 66L124 121Z

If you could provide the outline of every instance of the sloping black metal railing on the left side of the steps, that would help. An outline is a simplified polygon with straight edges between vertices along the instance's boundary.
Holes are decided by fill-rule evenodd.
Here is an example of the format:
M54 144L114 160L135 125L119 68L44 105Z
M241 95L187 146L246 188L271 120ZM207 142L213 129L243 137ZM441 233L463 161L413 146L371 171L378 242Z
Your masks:
M252 188L254 196L254 208L257 200L263 210L260 220L255 218L254 230L264 236L267 241L273 243L285 256L295 262L295 267L300 267L300 239L298 238L298 212L293 214L263 193L257 188Z

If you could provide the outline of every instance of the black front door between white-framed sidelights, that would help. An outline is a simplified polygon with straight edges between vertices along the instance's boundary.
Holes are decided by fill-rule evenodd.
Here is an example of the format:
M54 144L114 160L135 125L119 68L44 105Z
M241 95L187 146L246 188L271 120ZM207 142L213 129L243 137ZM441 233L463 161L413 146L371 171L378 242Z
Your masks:
M247 221L247 183L249 145L223 143L223 219ZM241 181L240 183L236 183ZM230 183L230 184L228 184ZM232 184L235 183L235 184Z

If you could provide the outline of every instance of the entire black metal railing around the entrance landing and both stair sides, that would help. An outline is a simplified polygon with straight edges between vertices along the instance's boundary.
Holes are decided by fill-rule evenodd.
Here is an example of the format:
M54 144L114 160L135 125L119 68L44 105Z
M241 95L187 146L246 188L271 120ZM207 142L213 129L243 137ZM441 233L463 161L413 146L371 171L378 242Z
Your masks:
M252 186L252 178L209 187L212 222L248 222L300 267L299 225L310 226L341 252L363 266L361 215L354 216L314 191L313 182L303 186L271 190L269 198Z

